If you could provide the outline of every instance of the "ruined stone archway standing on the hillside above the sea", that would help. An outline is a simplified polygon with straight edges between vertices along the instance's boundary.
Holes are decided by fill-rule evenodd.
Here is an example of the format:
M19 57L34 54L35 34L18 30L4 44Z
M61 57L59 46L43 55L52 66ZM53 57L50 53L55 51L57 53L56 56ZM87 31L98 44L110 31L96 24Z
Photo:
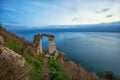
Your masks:
M56 58L58 56L58 51L56 50L56 44L54 42L54 35L50 34L37 34L34 36L34 45L37 49L37 54L43 54L42 48L42 37L46 36L49 38L49 50L48 54ZM48 54L46 56L48 56Z

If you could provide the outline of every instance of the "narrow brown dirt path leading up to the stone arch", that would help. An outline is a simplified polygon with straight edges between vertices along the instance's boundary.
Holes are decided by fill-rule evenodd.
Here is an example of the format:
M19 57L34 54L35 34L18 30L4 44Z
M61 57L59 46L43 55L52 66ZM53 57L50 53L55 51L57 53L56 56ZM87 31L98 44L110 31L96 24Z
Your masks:
M46 58L44 59L44 65L42 69L43 80L50 80L49 72L50 72L50 69L48 67L48 59Z

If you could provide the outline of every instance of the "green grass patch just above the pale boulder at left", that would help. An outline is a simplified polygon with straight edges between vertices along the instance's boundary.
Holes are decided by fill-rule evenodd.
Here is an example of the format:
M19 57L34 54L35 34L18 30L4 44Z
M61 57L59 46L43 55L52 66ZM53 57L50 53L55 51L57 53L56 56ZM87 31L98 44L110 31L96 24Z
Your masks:
M13 51L15 51L17 53L21 53L22 50L24 49L23 44L17 43L17 42L12 41L12 40L6 40L5 46L8 47L9 49L12 49Z

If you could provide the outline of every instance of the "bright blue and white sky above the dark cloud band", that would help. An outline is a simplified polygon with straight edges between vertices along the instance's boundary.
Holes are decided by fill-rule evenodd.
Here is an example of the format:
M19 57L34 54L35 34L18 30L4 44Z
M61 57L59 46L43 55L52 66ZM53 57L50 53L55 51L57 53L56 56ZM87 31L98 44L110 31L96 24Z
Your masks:
M120 21L120 0L0 0L0 24L27 27Z

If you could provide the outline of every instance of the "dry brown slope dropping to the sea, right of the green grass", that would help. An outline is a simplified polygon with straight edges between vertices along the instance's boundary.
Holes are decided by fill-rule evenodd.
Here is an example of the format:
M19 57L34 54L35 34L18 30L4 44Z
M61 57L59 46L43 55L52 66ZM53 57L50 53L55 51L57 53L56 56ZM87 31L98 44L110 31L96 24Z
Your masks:
M58 57L58 62L62 64L72 80L100 80L96 74L86 71L81 65L64 58L64 53Z

